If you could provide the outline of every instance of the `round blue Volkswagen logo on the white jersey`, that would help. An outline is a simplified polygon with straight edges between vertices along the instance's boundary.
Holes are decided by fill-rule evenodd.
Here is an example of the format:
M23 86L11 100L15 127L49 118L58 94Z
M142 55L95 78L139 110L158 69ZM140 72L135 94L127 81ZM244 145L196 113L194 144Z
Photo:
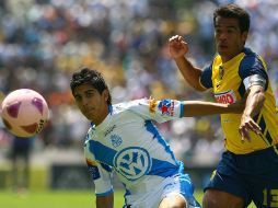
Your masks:
M135 181L148 173L151 159L148 151L142 148L126 148L114 158L114 166L124 177Z

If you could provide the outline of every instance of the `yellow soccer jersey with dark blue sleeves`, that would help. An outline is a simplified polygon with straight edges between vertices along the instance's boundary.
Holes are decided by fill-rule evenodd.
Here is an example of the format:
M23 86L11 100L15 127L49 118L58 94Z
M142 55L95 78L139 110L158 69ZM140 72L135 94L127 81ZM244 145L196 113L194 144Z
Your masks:
M262 128L262 134L250 132L251 142L242 142L239 132L242 115L221 115L225 149L236 154L250 153L278 143L278 115L276 113L275 96L267 76L267 66L260 56L248 48L244 48L241 54L224 63L221 57L217 55L200 77L200 84L204 88L213 90L217 102L231 104L243 99L247 89L244 81L253 74L259 74L266 80L266 100L259 114L254 117L254 120Z

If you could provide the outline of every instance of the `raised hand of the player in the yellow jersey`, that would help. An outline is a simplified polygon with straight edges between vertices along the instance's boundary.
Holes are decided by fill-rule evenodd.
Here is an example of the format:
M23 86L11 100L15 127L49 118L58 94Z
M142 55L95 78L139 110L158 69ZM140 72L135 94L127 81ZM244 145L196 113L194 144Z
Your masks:
M188 44L181 35L172 36L169 39L170 56L174 59L183 57L189 50Z

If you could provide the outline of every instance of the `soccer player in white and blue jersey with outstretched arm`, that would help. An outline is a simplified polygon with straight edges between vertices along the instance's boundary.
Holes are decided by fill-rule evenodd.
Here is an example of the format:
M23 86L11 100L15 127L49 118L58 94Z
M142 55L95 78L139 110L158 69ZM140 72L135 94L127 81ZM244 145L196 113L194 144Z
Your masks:
M91 120L84 154L95 185L96 208L113 208L112 173L126 188L128 208L197 208L194 185L152 120L240 113L243 106L200 101L136 100L112 105L109 90L96 70L72 74L71 91Z

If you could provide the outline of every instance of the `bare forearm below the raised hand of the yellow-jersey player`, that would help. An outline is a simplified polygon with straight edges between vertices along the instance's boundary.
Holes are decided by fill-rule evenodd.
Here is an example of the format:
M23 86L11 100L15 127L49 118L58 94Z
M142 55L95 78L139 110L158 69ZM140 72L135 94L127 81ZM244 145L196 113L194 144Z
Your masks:
M201 70L194 67L185 57L174 59L184 79L196 90L204 91L205 89L199 83Z

